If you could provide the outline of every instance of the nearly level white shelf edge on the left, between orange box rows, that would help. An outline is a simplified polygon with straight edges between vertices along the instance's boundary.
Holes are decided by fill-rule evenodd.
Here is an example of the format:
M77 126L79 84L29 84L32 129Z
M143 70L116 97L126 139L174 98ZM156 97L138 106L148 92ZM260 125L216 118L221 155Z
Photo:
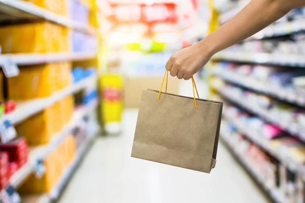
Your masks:
M1 0L0 0L1 1ZM1 7L1 5L0 5ZM95 52L85 53L30 53L30 54L0 54L0 63L9 60L17 65L33 65L60 61L76 61L93 59L97 57Z

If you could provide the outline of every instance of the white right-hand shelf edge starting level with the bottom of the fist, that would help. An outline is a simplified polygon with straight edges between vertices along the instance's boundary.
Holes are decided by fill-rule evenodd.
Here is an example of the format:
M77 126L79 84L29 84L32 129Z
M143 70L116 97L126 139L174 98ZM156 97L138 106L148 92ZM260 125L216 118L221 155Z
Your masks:
M230 83L234 83L257 92L271 95L280 100L287 101L288 103L293 103L298 106L305 107L305 95L302 92L297 91L297 89L285 89L283 87L275 88L269 84L260 82L255 78L247 76L241 77L237 73L221 70L219 68L215 68L214 74Z

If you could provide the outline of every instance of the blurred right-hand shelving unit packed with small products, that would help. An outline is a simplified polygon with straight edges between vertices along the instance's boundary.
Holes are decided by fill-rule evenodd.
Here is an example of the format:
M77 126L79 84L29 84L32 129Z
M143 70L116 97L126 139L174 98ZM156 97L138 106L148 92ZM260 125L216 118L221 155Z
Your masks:
M231 2L229 6L233 7L235 5L235 8L220 14L219 22L223 24L228 21L244 8L247 3L249 1ZM225 5L222 6L222 10L224 9L226 9ZM301 46L295 49L297 51L292 49L294 40L294 43L297 43L298 39L302 39L297 38L301 36L299 34L305 32L305 24L303 23L305 16L304 12L302 14L301 12L291 12L289 17L269 25L256 33L256 35L246 39L245 41L247 42L241 42L239 45L213 56L212 76L209 80L211 95L215 96L215 98L222 98L225 103L230 104L230 110L224 108L223 111L223 119L227 129L221 130L222 141L272 200L279 203L302 202L305 199L305 196L300 194L303 192L300 184L303 185L305 182L305 165L301 161L303 152L299 150L298 154L292 153L290 150L295 148L290 148L289 144L286 146L285 139L283 142L273 141L271 139L272 136L266 136L268 133L258 126L272 126L279 129L287 138L298 143L301 148L305 143L305 131L302 128L302 123L294 115L299 115L298 113L305 108L305 89L301 86L302 83L298 84L298 86L295 85L296 83L287 85L284 83L282 85L281 81L277 83L278 80L275 80L276 82L272 80L273 83L271 84L270 78L266 79L267 74L264 75L265 77L262 76L267 71L263 73L259 71L263 70L261 67L272 67L272 70L278 67L287 72L290 70L292 72L296 69L301 72L302 68L305 67L305 56L303 54L291 54L302 53ZM277 44L279 42L282 42L281 46ZM286 42L290 43L288 43L290 47L289 45L285 47ZM270 46L268 47L268 45ZM265 53L262 53L263 51ZM242 70L244 66L241 65L245 66L245 71ZM254 72L254 70L257 72ZM282 73L284 75L285 71ZM298 78L298 82L302 82L302 78ZM264 103L264 101L266 102ZM284 114L281 114L281 107L283 107L283 112L285 113L286 111L291 111L291 114L287 115L287 117L292 116L289 117L292 120L288 119L290 123L276 116L277 108L280 109L278 111L278 113L280 112L279 115ZM297 113L293 114L294 112ZM300 114L302 115L302 113ZM255 121L258 123L255 123ZM260 121L261 125L259 124ZM255 126L259 129L254 129ZM267 137L271 140L267 139ZM257 151L252 151L253 154L251 154L251 150ZM252 157L255 157L254 152L261 152L260 158L265 158L266 160L261 160L262 163L260 163L259 160ZM295 156L297 154L298 157L293 157L292 154ZM252 159L248 159L247 156ZM260 166L263 164L272 165L269 165L272 168L270 169L272 172L257 172L256 169L263 170L262 168L266 169L268 167ZM270 175L269 173L273 173L273 167L282 171L279 174ZM293 174L294 180L287 174ZM275 183L274 187L269 187L266 179L272 181L280 180L281 182ZM290 191L285 188L288 181L291 184ZM293 198L294 201L292 201Z

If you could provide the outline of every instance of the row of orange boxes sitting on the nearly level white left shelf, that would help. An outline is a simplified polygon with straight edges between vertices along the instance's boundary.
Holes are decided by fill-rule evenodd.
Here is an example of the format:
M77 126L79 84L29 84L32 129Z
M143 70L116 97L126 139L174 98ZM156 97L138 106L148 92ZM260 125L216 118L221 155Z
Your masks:
M37 22L0 27L2 53L47 53L69 50L67 28ZM62 43L61 42L66 42Z

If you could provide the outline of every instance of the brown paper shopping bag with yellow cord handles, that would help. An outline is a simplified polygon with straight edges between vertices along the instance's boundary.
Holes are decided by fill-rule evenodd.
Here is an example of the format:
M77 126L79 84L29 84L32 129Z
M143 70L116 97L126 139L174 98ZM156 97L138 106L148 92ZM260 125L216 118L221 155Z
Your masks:
M223 103L195 99L192 82L194 98L143 90L132 157L205 173L215 167Z

